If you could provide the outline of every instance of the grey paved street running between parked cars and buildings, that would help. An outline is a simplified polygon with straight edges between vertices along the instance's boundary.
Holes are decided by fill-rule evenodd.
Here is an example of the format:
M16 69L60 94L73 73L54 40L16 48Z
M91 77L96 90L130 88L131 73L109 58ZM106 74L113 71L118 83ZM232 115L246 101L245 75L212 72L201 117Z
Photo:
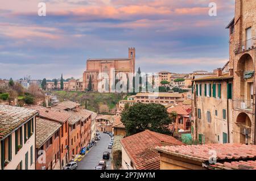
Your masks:
M94 170L94 167L98 165L98 162L101 161L102 155L104 151L111 152L110 149L108 149L108 145L110 142L110 136L108 134L98 132L100 133L101 140L97 141L97 146L93 146L93 148L89 151L88 154L85 155L84 158L82 158L81 161L77 162L77 169L79 170ZM110 170L111 161L107 161L107 170Z

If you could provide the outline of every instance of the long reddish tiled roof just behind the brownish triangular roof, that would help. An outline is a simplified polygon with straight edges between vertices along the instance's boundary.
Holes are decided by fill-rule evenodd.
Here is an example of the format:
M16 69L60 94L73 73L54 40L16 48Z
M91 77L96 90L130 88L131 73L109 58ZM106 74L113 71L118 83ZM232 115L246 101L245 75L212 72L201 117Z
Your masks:
M65 121L67 121L70 117L68 113L52 110L51 108L46 108L43 106L30 106L28 108L30 108L31 110L38 111L39 117L43 117L53 121L58 121L60 123L65 123Z

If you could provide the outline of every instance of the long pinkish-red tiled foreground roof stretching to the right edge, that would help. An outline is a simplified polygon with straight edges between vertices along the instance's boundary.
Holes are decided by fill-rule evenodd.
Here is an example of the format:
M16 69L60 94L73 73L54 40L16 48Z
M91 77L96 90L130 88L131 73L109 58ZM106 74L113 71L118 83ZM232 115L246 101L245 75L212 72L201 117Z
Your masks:
M160 152L174 155L176 157L195 159L205 162L209 160L210 150L217 153L217 160L224 159L256 159L256 145L242 144L207 144L207 145L188 145L188 146L161 146L156 148Z

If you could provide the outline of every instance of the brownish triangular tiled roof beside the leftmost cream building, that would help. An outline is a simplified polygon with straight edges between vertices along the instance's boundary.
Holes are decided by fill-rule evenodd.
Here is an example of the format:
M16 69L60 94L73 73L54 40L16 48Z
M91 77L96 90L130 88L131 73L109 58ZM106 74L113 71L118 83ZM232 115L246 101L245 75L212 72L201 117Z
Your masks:
M37 117L36 148L40 148L60 127L60 123Z

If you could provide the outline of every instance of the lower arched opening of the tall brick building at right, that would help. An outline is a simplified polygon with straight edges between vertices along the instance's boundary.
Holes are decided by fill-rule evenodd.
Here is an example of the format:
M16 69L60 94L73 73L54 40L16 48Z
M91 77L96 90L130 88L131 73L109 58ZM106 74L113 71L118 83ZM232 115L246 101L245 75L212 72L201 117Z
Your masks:
M251 133L251 119L245 113L242 112L237 116L236 124L240 130L240 143L246 144L246 133L248 134L248 141L250 143L250 133Z

